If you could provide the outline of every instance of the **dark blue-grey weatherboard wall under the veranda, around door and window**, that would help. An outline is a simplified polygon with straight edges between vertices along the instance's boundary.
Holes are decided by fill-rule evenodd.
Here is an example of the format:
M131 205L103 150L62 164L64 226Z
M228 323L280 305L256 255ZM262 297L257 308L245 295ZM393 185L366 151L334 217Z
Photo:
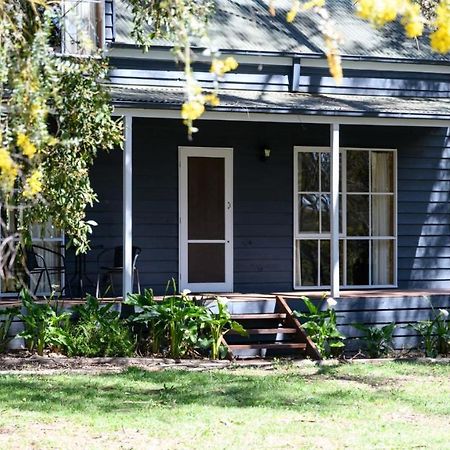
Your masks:
M234 148L235 291L292 290L294 145L328 145L327 126L200 121L192 142L178 120L134 119L133 239L142 284L162 293L178 274L178 146ZM403 288L450 288L450 150L444 131L341 129L342 146L398 148L398 278ZM260 160L269 146L271 158ZM93 246L121 244L122 154L102 155L92 181L100 204ZM98 249L88 255L95 279Z

